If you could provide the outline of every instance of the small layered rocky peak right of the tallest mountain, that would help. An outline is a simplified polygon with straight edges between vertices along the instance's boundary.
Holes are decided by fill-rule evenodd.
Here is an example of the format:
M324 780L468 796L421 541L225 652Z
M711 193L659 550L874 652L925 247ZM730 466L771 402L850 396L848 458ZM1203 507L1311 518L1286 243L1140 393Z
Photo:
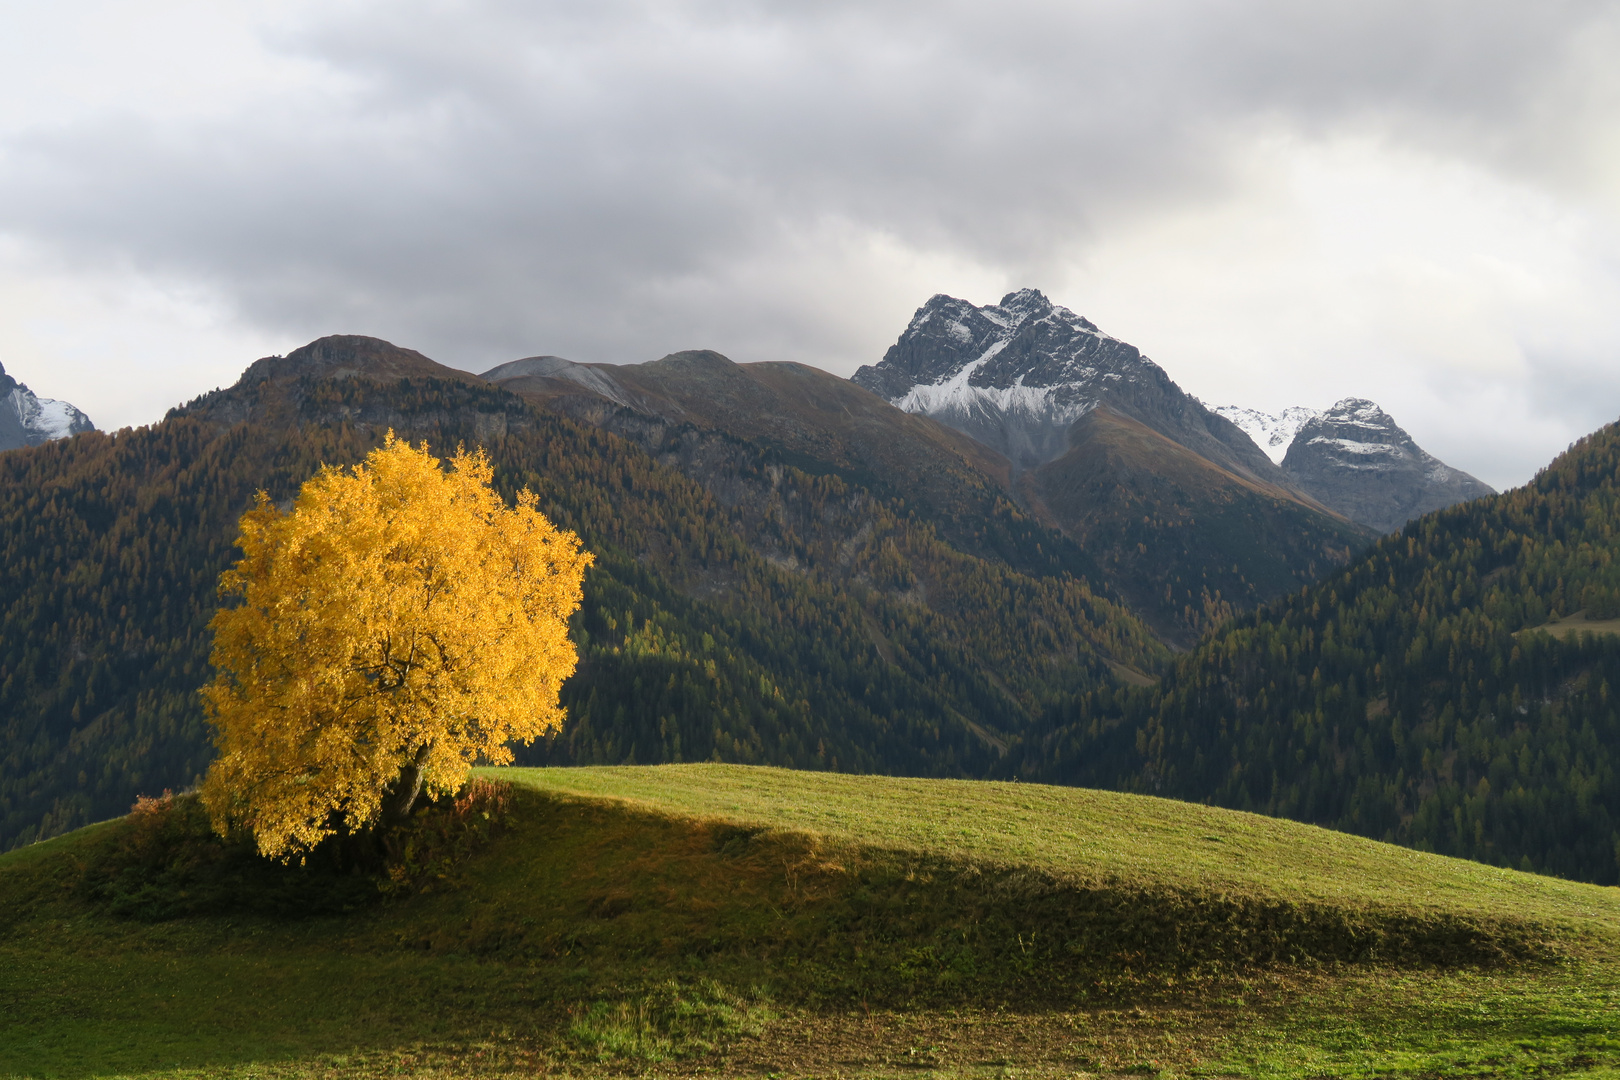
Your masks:
M1345 398L1307 421L1288 447L1283 471L1322 505L1380 533L1495 494L1489 484L1426 453L1366 398Z

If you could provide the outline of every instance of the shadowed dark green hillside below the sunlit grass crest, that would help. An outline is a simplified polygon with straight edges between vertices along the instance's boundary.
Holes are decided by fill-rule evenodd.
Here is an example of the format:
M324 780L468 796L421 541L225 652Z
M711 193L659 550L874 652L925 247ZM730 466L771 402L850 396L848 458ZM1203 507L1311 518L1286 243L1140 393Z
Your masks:
M590 1002L700 981L812 1009L1042 1009L1552 955L1523 923L1082 886L528 790L458 874L342 915L139 923L89 905L78 866L71 844L0 863L0 1072L557 1046Z

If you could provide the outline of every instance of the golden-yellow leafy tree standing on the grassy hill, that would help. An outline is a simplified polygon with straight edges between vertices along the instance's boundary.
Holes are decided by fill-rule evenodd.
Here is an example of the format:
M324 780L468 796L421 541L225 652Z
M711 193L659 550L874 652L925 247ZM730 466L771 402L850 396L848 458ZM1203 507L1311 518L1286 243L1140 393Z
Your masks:
M220 575L214 826L264 855L403 819L478 759L562 722L569 615L591 555L530 491L507 507L483 450L449 468L389 432L352 470L322 466L290 513L264 492Z

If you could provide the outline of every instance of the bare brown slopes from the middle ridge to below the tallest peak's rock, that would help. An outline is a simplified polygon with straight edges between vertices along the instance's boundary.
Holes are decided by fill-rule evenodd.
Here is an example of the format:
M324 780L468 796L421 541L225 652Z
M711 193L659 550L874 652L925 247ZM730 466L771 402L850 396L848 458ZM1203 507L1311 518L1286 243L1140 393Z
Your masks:
M1126 361L1145 363L1134 350ZM998 450L804 364L735 364L711 351L624 366L533 356L484 377L654 453L663 424L695 426L838 473L904 499L961 551L1102 583L1179 646L1233 610L1315 581L1371 539L1102 405L1069 424L1061 457L1014 479ZM708 483L700 458L680 468Z

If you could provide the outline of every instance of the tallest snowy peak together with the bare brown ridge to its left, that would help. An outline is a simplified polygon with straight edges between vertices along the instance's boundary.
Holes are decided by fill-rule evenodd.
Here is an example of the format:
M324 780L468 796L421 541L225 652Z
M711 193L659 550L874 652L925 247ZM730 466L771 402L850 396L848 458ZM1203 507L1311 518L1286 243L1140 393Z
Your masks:
M583 423L642 432L653 452L669 424L695 424L838 468L922 499L953 542L982 555L996 551L975 539L983 508L1004 502L1068 541L1068 572L1179 648L1343 565L1374 536L1134 347L1035 290L988 308L935 296L850 382L710 351L648 364L531 356L483 377Z

